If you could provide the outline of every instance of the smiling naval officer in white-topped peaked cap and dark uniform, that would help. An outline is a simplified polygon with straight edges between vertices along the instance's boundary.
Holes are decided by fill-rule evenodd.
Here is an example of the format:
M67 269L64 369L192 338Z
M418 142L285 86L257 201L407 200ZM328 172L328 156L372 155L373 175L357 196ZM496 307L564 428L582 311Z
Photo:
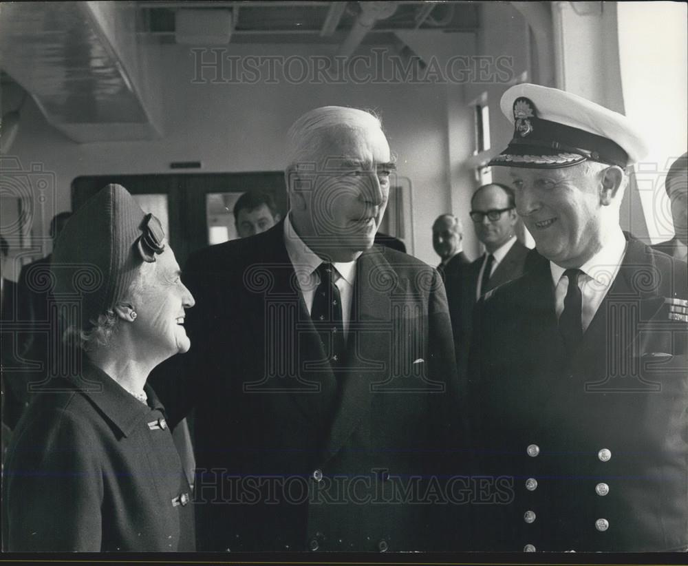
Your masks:
M625 235L641 136L579 96L502 97L506 166L539 262L477 304L469 379L481 473L513 479L482 547L688 547L687 266ZM499 536L495 536L499 533Z

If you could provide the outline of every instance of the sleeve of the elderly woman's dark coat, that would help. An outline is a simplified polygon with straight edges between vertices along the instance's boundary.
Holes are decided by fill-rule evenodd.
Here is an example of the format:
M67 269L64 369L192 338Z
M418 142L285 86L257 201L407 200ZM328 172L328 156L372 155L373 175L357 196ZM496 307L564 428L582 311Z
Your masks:
M99 443L66 411L28 424L6 472L9 552L100 552Z

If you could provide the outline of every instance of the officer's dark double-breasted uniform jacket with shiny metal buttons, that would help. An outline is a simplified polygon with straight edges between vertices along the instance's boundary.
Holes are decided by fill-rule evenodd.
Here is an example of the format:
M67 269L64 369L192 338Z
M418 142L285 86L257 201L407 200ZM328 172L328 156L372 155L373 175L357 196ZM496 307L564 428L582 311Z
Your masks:
M475 449L481 474L514 482L501 505L480 507L484 549L688 545L688 324L666 302L687 294L684 262L629 240L572 358L544 258L481 300L469 373Z

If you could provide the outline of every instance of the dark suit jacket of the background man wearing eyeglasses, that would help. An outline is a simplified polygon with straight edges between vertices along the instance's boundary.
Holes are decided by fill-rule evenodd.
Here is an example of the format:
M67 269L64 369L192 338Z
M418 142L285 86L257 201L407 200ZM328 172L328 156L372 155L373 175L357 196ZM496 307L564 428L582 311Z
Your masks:
M516 240L491 275L487 290L495 289L495 287L523 275L529 252L530 249ZM480 258L471 262L470 265L465 266L458 286L451 291L447 289L447 295L451 297L449 312L451 314L454 347L460 372L465 370L468 362L471 328L473 326L473 307L475 306L475 290L477 289L477 280L484 260L485 255L481 255Z

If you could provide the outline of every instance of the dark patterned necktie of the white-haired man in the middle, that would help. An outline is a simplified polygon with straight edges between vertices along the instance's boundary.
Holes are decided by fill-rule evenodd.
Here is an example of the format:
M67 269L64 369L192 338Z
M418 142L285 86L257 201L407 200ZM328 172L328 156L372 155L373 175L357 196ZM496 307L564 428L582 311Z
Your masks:
M320 276L320 284L315 290L310 317L320 335L325 355L334 368L343 363L346 349L341 297L334 284L336 271L332 264L322 263L316 272Z

